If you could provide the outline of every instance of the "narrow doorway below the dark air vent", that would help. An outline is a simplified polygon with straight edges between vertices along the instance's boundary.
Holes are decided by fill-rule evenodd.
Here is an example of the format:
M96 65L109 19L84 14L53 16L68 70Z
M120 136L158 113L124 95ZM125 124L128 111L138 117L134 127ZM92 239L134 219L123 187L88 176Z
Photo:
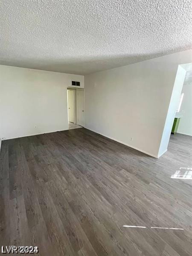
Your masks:
M69 129L84 126L84 89L67 88Z

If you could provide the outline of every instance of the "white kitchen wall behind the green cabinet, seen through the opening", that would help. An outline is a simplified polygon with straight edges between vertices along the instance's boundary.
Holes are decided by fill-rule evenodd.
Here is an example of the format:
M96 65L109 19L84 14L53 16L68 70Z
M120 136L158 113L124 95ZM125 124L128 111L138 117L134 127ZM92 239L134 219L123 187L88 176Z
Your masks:
M182 93L184 93L180 108L182 118L177 132L192 136L192 84L183 84Z

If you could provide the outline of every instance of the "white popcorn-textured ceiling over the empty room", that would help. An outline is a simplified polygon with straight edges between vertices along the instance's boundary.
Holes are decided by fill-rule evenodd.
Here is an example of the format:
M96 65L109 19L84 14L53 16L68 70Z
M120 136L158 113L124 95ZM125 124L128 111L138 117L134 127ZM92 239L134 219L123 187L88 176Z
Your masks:
M88 74L191 48L191 0L0 0L0 64Z

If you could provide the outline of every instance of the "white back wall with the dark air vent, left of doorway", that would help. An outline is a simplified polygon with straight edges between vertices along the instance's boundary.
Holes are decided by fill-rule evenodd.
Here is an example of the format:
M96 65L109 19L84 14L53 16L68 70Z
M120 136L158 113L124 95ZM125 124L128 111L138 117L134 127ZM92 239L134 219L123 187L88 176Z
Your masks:
M84 76L0 65L0 137L68 129L71 80L84 87Z

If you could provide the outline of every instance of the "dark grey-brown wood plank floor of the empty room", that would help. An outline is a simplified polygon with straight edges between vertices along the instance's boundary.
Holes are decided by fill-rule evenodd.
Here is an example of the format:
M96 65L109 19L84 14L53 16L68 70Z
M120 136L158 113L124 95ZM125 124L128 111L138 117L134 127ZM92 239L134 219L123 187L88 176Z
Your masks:
M38 246L43 256L189 256L192 180L170 178L180 167L192 167L192 137L180 134L158 160L84 128L3 141L0 245Z

